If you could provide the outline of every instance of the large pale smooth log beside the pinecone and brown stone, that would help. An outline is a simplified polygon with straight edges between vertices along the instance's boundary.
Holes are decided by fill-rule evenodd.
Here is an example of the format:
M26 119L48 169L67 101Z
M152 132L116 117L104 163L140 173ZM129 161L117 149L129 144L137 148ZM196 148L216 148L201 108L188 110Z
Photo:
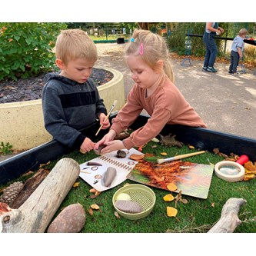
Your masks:
M78 163L62 158L18 209L2 215L2 233L42 233L80 173Z

